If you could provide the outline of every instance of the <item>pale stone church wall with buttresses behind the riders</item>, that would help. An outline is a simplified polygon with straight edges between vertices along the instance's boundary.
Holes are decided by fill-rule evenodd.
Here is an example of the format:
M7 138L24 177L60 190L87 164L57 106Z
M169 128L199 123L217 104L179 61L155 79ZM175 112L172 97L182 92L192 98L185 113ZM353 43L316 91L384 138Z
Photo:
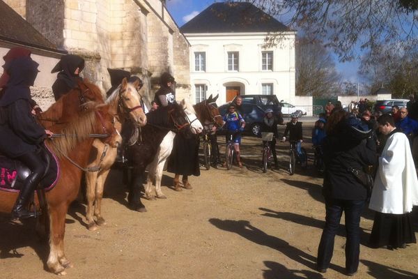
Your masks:
M164 72L176 78L177 98L189 98L189 43L164 0L5 2L59 50L82 56L82 76L103 92L111 87L107 68L121 68L144 81L146 103Z

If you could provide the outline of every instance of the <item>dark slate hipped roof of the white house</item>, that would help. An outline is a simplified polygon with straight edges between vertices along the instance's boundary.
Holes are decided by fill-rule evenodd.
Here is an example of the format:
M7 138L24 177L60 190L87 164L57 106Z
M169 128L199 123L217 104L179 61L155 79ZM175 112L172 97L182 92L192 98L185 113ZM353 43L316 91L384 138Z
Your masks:
M291 31L274 17L247 2L213 3L182 27L182 33Z

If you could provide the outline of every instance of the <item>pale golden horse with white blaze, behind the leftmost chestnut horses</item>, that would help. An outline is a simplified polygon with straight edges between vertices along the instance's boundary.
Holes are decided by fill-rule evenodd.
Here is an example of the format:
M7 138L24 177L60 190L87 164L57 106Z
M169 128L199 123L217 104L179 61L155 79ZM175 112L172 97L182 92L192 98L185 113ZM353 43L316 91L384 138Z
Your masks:
M114 115L115 128L121 132L123 123L130 119L138 126L146 124L146 115L141 107L141 96L137 92L138 81L130 84L126 78L122 84L107 98L109 112ZM118 134L116 139L118 144L122 144L122 137ZM117 155L117 147L109 146L102 140L95 139L88 167L100 167L98 172L85 172L87 186L87 209L86 220L87 228L94 231L98 225L104 225L102 217L102 197L104 181L107 179L111 165L114 164ZM93 206L94 204L94 206ZM94 220L94 217L96 220Z

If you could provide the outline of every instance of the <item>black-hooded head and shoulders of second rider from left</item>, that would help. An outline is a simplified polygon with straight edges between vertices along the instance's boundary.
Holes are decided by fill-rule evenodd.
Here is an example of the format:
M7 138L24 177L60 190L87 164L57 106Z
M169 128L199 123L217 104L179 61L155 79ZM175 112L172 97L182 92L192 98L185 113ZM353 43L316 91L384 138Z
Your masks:
M75 54L67 54L61 57L51 73L59 72L56 81L52 84L52 92L55 100L61 98L71 89L77 87L77 81L82 81L79 73L84 69L84 59Z

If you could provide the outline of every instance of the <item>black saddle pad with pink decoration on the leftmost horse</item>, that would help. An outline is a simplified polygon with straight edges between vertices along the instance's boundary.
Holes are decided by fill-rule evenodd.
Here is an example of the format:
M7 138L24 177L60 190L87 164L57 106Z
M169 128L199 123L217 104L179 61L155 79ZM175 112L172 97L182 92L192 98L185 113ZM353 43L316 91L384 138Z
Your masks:
M59 178L59 163L54 153L47 149L47 156L49 156L49 169L42 177L39 183L39 188L44 188L49 191L56 185ZM45 165L47 165L47 158L42 158ZM18 192L24 183L24 180L31 171L19 160L13 160L6 156L0 156L0 190L8 192Z

